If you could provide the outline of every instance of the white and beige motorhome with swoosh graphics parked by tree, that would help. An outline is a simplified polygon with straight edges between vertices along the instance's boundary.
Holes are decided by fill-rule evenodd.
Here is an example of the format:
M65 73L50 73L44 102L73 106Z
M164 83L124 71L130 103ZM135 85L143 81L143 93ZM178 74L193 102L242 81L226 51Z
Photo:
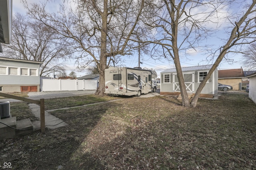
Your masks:
M156 77L154 70L125 66L110 67L105 69L105 93L140 96L140 94L156 92L157 84L152 81Z

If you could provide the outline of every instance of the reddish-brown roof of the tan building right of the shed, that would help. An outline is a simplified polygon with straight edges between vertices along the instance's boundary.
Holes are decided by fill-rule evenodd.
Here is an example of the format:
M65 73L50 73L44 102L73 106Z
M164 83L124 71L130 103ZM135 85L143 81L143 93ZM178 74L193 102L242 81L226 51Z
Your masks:
M218 78L242 78L244 77L244 70L242 68L218 70Z

